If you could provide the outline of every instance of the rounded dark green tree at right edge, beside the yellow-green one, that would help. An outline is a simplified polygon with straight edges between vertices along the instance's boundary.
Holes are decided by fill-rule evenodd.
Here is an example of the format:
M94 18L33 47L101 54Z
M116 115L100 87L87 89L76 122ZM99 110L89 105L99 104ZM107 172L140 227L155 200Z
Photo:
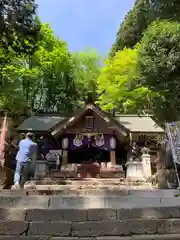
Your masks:
M180 116L180 24L156 21L138 52L141 84L153 93L151 109L161 122Z

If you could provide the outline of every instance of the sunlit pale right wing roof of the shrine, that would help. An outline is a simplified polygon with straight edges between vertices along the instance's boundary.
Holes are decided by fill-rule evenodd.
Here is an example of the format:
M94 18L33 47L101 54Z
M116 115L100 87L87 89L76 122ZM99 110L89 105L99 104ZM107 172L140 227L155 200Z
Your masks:
M142 132L142 133L163 133L164 130L157 126L155 121L149 115L119 115L115 117L125 128L131 132Z

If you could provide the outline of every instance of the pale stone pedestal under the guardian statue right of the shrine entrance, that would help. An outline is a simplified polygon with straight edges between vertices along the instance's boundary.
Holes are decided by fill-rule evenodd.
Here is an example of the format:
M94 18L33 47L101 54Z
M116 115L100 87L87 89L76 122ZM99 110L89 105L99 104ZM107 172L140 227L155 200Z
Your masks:
M126 163L127 178L144 178L143 164L139 161L129 161Z

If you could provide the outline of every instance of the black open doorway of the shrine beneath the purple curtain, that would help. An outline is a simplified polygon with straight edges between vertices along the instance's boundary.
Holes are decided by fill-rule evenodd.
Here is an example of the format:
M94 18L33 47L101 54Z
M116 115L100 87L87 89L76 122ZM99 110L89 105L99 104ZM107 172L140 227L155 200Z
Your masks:
M109 151L91 145L68 151L68 163L80 164L89 161L109 162Z

